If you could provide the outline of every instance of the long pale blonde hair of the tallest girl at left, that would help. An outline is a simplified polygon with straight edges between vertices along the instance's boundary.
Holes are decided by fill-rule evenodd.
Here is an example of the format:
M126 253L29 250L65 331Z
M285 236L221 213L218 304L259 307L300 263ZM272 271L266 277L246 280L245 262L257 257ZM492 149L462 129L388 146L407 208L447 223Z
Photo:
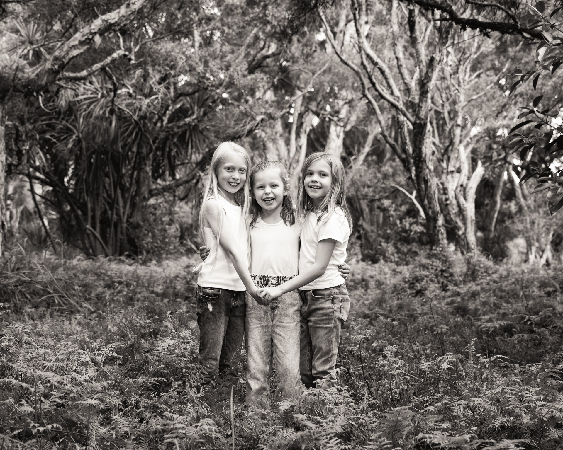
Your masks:
M207 245L207 242L205 242L205 235L204 235L204 232L203 232L204 205L205 205L205 202L209 199L215 199L217 201L217 203L220 203L219 186L217 184L217 169L221 166L221 164L223 164L225 162L225 160L229 157L229 155L231 155L233 153L242 156L247 163L247 178L244 181L242 188L240 188L238 190L238 192L236 192L235 199L236 199L236 201L238 201L239 205L242 207L242 219L241 219L242 223L241 223L241 226L244 226L246 228L248 249L250 249L250 239L249 239L250 233L248 231L248 217L249 217L248 213L249 213L249 210L250 210L250 190L249 190L250 176L249 176L248 172L251 169L252 163L251 163L251 160L250 160L250 156L248 155L248 152L246 150L244 150L243 147L241 147L238 144L235 144L234 142L230 142L230 141L221 142L217 146L217 149L215 150L215 152L213 153L213 157L211 158L211 164L209 164L207 179L205 180L205 188L203 190L202 209L199 212L199 236L200 236L202 242L205 245ZM218 233L217 233L217 244L219 244L219 238L221 236L222 226L223 226L223 217L222 217L222 215L220 215L219 216L219 227L218 227ZM216 252L217 252L217 250L218 250L218 245L217 245ZM250 252L249 252L249 255L248 255L248 260L250 261Z

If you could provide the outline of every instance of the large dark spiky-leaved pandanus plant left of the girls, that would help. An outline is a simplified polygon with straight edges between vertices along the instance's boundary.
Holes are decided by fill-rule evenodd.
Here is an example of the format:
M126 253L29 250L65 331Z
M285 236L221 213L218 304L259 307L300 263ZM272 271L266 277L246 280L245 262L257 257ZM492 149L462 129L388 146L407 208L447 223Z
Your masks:
M196 93L172 103L151 81L143 95L105 75L68 84L41 123L32 176L51 188L44 198L66 239L88 255L136 254L136 230L161 192L153 184L185 176L206 153L200 122L212 100Z

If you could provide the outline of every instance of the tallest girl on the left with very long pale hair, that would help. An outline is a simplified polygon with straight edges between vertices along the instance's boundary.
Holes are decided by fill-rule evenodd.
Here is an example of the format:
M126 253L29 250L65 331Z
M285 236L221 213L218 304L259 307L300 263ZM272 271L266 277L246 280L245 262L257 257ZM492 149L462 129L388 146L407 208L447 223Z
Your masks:
M260 299L248 270L250 164L243 147L223 142L213 154L205 183L199 231L211 251L198 275L202 365L198 391L216 379L217 372L226 381L226 390L230 392L229 385L236 386L246 315L245 291Z

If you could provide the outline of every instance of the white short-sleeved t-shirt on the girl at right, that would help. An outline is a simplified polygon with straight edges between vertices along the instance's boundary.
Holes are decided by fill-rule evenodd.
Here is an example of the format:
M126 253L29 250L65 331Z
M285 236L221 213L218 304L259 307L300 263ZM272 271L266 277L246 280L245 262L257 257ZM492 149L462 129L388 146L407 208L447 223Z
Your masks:
M315 262L319 241L334 239L336 245L324 274L311 281L308 285L300 287L299 289L301 290L324 289L325 287L339 286L344 282L344 278L342 278L338 271L338 266L344 264L346 260L346 247L348 246L348 237L350 237L350 226L348 226L348 221L341 208L334 210L334 213L328 218L325 216L320 222L317 222L319 215L320 213L309 212L305 216L305 222L301 231L299 272L301 273Z

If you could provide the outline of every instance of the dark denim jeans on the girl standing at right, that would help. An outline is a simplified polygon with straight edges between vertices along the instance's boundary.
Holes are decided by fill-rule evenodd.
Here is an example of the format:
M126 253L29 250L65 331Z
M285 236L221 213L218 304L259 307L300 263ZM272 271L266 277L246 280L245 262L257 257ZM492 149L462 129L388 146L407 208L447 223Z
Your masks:
M301 308L301 381L307 388L336 386L340 331L348 318L346 285L299 291ZM316 386L315 384L318 386Z

